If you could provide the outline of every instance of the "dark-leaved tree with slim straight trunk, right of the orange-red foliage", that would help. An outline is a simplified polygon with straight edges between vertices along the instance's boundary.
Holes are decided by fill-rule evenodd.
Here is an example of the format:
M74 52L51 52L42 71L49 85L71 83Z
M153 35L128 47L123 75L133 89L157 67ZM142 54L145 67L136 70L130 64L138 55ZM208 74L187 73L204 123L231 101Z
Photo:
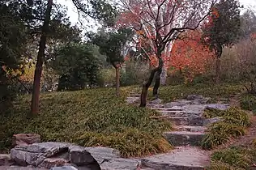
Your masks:
M215 52L216 83L220 81L220 57L224 46L231 46L240 34L240 5L238 0L220 0L203 28L203 40Z

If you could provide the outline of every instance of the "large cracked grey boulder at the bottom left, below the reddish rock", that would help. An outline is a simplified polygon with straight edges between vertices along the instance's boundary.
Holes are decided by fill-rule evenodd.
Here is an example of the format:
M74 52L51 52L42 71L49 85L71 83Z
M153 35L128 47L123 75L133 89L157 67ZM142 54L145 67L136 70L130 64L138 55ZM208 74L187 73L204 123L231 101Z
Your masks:
M84 148L62 142L33 143L11 149L11 159L21 166L32 165L49 169L75 164L78 167L83 165L85 168L87 166L100 169L100 165Z

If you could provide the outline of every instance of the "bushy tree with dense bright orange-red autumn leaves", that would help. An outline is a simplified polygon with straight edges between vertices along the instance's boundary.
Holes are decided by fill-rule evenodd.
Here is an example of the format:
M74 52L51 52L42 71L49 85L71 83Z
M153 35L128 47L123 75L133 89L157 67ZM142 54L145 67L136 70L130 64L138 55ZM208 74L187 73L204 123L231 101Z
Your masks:
M182 36L182 40L175 40L173 44L169 67L174 68L173 72L180 71L188 83L195 75L205 73L214 53L203 45L201 31L189 31Z

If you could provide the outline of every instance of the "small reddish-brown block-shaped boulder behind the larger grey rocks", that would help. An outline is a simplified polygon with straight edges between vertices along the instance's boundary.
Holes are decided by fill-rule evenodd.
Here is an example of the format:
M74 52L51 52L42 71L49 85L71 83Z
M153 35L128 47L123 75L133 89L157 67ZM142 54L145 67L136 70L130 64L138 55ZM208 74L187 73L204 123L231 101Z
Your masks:
M37 142L41 142L41 136L39 134L14 134L12 137L13 147L17 145L30 145Z

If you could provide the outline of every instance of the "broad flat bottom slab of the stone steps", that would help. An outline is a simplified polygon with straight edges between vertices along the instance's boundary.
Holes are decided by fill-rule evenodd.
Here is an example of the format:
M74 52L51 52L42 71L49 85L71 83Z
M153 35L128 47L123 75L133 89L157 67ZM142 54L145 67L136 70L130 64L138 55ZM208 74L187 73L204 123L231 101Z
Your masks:
M173 151L142 159L142 166L152 169L203 170L210 165L210 153L198 147L177 147Z

